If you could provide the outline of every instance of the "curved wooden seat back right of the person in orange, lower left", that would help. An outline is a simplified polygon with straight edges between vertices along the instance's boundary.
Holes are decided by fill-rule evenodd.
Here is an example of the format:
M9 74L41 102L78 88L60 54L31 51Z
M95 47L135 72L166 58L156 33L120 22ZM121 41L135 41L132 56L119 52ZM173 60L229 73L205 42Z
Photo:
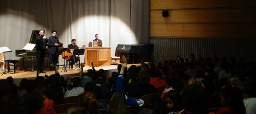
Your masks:
M78 106L78 103L59 104L54 107L56 114L66 113L67 109Z

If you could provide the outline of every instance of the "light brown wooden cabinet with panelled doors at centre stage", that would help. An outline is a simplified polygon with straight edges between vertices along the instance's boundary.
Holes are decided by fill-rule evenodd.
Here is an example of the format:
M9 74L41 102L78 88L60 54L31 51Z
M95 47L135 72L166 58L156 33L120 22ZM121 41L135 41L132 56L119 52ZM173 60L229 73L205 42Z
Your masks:
M85 66L110 66L110 47L85 47Z

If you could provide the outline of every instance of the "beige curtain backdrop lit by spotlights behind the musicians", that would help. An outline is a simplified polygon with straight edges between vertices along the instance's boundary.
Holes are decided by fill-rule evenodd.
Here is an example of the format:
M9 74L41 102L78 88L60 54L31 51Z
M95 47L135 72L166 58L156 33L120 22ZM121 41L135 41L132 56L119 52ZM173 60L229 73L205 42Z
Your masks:
M78 47L89 44L99 34L103 47L149 42L150 0L0 0L0 47L9 47L6 59L19 59L16 49L28 42L32 30L45 36L58 31L67 47L72 39ZM83 58L84 56L80 56ZM59 57L60 64L63 64ZM81 59L83 62L83 59Z

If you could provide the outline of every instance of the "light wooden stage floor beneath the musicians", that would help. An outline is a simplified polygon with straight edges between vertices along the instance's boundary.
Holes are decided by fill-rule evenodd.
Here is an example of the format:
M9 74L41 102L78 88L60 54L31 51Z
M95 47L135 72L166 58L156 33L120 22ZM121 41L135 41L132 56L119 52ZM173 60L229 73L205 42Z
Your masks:
M127 67L129 68L132 65L140 66L140 64L128 64ZM80 73L80 70L78 70L78 68L75 69L75 66L73 67L73 69L72 68L67 68L67 72L64 72L64 70L62 70L62 68L63 68L63 66L59 66L58 72L65 79L68 78L71 75L79 75L79 73ZM101 67L94 67L94 68L95 68L96 71L99 71L99 69L104 69L104 75L106 76L106 79L111 77L112 72L117 72L117 65L101 66ZM84 69L83 69L83 72L87 73L88 69L92 69L92 67L85 66ZM46 73L40 73L39 76L44 77L45 74L50 76L51 74L55 73L54 71L50 71L49 67L45 67L44 71ZM2 73L2 71L1 71L1 73ZM6 73L6 74L3 74L3 75L1 74L0 79L6 79L6 78L11 76L14 79L14 83L18 86L19 83L21 82L22 78L35 79L37 77L36 69L35 69L34 72L32 72L32 71L17 71L16 70L16 73L14 73L14 74L12 74L12 73L13 73L13 69L10 71L10 73Z

